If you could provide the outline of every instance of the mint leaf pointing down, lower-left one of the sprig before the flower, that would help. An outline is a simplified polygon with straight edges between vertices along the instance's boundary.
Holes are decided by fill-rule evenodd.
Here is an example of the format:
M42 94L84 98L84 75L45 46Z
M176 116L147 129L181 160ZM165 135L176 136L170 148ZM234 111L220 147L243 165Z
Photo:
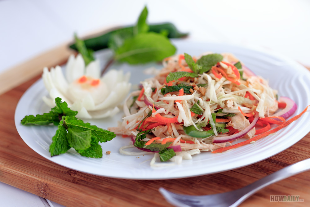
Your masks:
M52 138L49 152L51 156L60 155L70 149L69 142L67 140L67 130L63 125L63 120L60 121L56 134Z

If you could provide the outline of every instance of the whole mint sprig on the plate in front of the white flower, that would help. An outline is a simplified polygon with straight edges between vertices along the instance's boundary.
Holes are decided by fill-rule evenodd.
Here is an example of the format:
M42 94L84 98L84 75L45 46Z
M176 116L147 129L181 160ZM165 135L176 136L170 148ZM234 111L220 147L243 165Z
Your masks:
M57 124L58 128L52 137L49 148L51 156L60 155L73 147L79 154L86 157L102 157L102 148L98 142L107 142L116 135L108 130L98 128L90 123L77 119L77 111L73 111L68 104L55 98L56 106L49 113L43 115L29 115L21 120L21 124Z

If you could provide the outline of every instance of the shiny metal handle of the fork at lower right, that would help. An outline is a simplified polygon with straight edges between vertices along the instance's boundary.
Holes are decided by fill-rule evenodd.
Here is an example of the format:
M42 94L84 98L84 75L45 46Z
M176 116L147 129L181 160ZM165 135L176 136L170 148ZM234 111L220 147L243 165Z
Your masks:
M247 199L249 196L253 195L256 191L259 191L260 189L278 182L280 180L283 180L285 178L288 178L290 176L296 175L298 173L307 171L310 169L310 158L308 158L307 160L303 160L300 162L297 162L295 164L292 164L290 166L287 166L281 170L278 170L275 173L272 173L256 182L253 182L252 184L240 188L237 191L240 192L240 194L242 193L244 196L242 196L236 203L238 203L238 205L245 199ZM236 204L235 203L235 204ZM235 206L235 205L233 205ZM236 205L237 206L237 205Z

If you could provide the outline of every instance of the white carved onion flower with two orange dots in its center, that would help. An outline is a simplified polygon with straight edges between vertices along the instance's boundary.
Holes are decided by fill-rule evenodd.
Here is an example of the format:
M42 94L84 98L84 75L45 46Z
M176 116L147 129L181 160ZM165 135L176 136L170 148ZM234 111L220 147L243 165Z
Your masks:
M78 111L78 118L99 119L114 116L128 94L131 83L130 74L109 70L100 77L99 61L91 61L86 67L80 54L69 57L65 68L65 76L56 66L49 71L43 69L42 79L49 97L42 97L50 107L55 106L55 98L60 97L68 103L68 107Z

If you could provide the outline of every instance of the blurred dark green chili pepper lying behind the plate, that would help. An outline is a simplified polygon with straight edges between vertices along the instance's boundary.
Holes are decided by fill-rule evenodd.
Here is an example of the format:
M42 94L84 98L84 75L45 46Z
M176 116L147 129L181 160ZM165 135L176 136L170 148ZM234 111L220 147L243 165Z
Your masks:
M124 27L120 29L115 29L98 37L85 39L85 45L88 49L92 49L94 51L101 50L104 48L108 48L108 42L111 35L115 32L132 32L133 33L133 26L131 27ZM172 23L164 23L164 24L156 24L156 25L149 25L149 31L161 33L162 31L166 31L168 34L168 38L182 38L186 37L188 33L181 33L179 30L173 25ZM70 48L77 50L75 43L70 45Z

